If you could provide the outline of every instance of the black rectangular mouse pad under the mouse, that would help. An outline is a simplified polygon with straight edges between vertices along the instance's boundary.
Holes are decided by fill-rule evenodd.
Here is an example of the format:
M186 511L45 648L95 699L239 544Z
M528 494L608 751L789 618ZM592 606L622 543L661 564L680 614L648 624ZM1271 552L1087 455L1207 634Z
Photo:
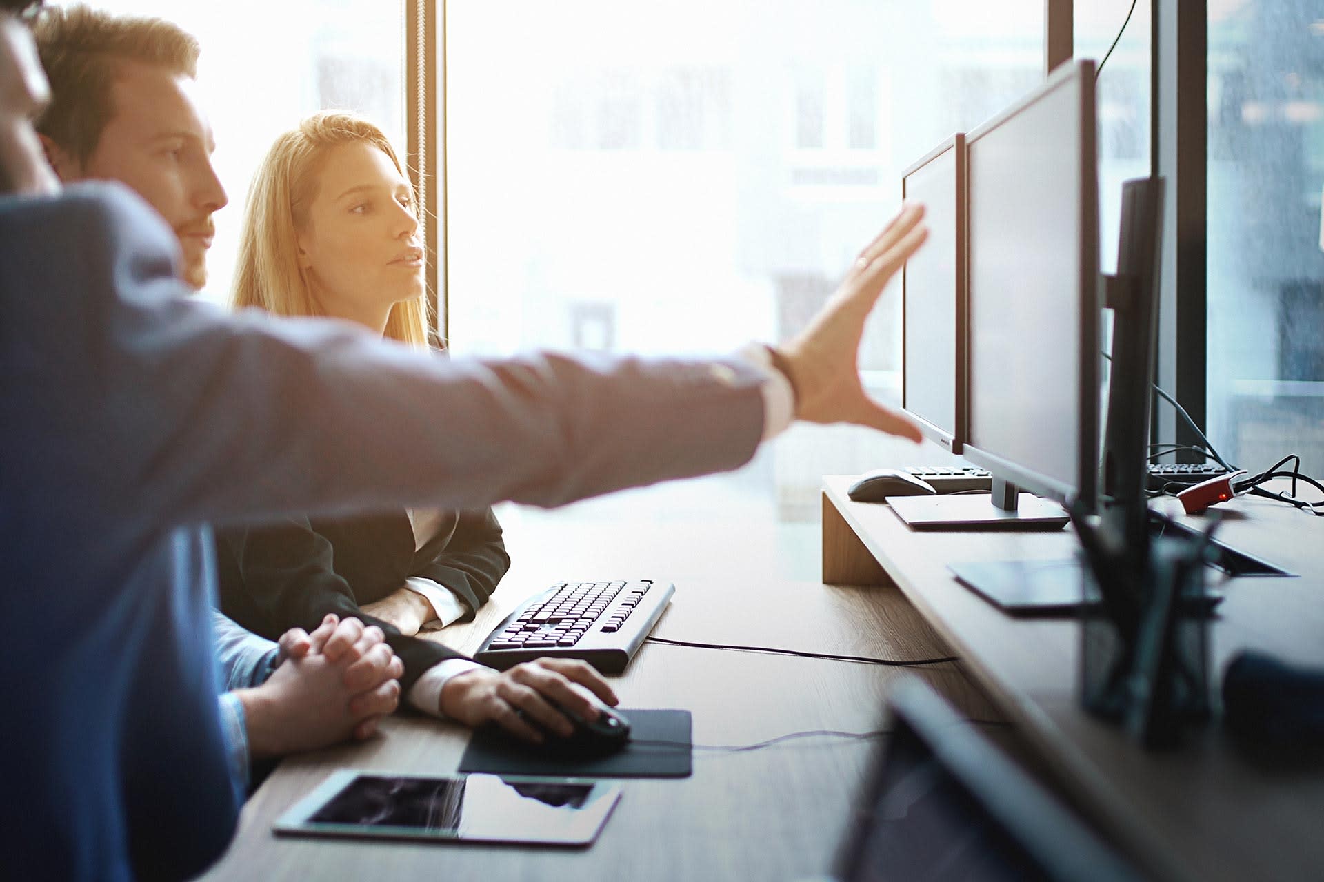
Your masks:
M503 729L483 726L469 739L459 758L459 771L577 778L688 778L692 774L688 710L622 707L621 713L630 721L630 742L610 756L549 756L538 744L522 742Z

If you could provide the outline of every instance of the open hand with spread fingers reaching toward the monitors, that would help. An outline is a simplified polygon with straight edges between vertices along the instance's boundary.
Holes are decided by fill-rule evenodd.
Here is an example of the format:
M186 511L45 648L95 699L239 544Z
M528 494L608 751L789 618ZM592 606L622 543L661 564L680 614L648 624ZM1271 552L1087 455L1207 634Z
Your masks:
M855 423L920 440L919 428L878 405L859 381L859 341L887 282L924 243L924 206L907 205L859 253L809 327L780 348L779 368L796 391L796 418L812 423Z

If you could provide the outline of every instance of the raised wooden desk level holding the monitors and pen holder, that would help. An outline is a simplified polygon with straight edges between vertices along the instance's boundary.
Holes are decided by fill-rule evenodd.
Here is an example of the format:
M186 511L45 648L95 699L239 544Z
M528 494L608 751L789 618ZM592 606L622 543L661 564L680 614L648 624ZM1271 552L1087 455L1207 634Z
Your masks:
M1053 534L915 533L887 505L824 483L824 581L896 584L1017 722L1062 784L1156 875L1172 879L1317 879L1324 875L1324 770L1267 771L1243 759L1217 723L1182 750L1147 754L1076 701L1079 625L1012 619L959 584L957 561L1051 559L1075 546ZM1324 524L1280 502L1238 499L1221 538L1299 573L1222 579L1211 672L1259 648L1324 665Z

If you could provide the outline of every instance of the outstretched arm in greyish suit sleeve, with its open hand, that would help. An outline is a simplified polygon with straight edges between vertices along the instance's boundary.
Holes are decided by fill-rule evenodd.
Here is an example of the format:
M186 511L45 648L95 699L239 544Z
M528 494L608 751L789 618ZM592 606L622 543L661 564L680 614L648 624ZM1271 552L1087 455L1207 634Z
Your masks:
M77 313L97 325L69 329L95 345L62 365L93 376L52 377L70 394L91 393L86 409L120 415L123 431L95 439L90 484L105 497L86 505L118 510L132 497L158 525L500 500L552 506L736 468L759 444L767 374L739 358L448 361L344 323L232 316L183 296L169 231L146 208L123 194L81 198L93 217L77 266L41 254L50 246L40 238L11 247L36 249L28 263L50 278L34 284L87 300L52 301L52 323ZM855 356L884 282L923 241L919 218L907 210L871 243L785 348L801 419L915 436L863 395ZM130 287L114 287L126 279Z

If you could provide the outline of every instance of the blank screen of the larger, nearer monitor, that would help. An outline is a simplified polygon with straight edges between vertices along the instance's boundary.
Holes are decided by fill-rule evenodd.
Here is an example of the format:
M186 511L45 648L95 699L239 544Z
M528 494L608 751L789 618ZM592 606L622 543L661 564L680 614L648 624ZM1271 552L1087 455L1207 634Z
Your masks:
M964 452L1033 493L1092 504L1099 407L1094 63L1059 70L970 132L967 144L970 422Z

